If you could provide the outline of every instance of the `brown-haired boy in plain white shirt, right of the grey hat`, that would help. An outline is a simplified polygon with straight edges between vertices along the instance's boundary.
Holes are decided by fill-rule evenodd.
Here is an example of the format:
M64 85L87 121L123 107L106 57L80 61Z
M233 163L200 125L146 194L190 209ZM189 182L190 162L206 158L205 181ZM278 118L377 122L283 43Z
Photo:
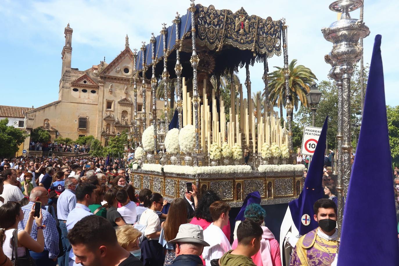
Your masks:
M209 246L205 246L202 252L202 257L207 266L211 265L211 260L221 258L223 254L230 250L230 242L222 231L222 228L229 223L230 209L230 206L224 201L215 201L209 206L213 223L203 231L204 240Z

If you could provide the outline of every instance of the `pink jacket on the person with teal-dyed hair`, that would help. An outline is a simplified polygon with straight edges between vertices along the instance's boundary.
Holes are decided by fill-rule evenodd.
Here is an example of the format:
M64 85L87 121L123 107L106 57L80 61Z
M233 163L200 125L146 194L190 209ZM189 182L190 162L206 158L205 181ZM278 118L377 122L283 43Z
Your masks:
M280 246L269 228L263 226L261 248L251 258L257 266L281 266ZM235 239L231 249L237 248L238 239Z

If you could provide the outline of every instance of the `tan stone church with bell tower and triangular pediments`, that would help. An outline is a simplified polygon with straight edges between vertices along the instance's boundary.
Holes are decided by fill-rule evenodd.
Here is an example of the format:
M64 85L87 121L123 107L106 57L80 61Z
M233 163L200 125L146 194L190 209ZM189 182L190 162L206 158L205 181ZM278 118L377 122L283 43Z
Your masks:
M128 129L134 121L134 93L130 86L133 52L126 35L125 49L109 64L101 61L90 69L80 71L71 67L72 28L65 28L62 50L62 71L58 100L29 110L25 114L26 129L41 127L48 130L53 142L58 137L76 140L93 135L103 145L107 139ZM142 112L141 81L137 86L138 116ZM157 100L157 117L162 115L164 101ZM146 86L146 110L151 110L151 85ZM149 123L149 115L146 116ZM140 121L142 131L142 121Z

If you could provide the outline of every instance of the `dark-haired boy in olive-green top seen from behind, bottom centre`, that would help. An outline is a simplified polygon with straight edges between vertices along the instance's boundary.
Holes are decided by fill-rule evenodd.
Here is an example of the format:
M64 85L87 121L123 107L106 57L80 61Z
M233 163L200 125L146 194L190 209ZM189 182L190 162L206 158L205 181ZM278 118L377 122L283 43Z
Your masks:
M219 260L219 265L256 266L251 257L255 255L261 247L262 234L263 231L259 224L250 220L245 220L240 223L237 228L237 248L224 254Z

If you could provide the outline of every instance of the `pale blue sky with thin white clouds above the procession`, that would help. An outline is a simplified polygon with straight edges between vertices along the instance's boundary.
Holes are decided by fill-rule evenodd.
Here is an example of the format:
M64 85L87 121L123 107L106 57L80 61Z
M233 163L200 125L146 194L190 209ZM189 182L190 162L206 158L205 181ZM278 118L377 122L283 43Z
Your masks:
M286 18L288 28L288 59L312 69L319 81L326 80L330 65L324 55L332 44L323 38L322 27L337 19L328 9L330 1L238 1L202 0L196 3L235 12L241 6L248 14L273 20ZM2 0L0 4L0 92L2 105L34 107L58 100L61 78L61 51L65 42L64 28L73 28L72 67L89 69L105 59L111 62L124 49L126 33L130 48L139 48L141 41L158 33L161 23L168 26L176 11L184 14L188 0L170 1L109 1L109 0ZM385 75L386 102L397 105L397 51L399 35L391 28L398 25L399 2L394 0L366 1L364 21L371 33L364 39L364 62L369 63L374 36L382 35L382 57ZM359 18L359 11L351 13ZM269 59L269 69L282 66L283 58ZM263 64L251 67L252 91L263 89ZM239 73L245 81L245 69ZM245 86L243 86L245 88ZM4 97L7 95L8 97Z

